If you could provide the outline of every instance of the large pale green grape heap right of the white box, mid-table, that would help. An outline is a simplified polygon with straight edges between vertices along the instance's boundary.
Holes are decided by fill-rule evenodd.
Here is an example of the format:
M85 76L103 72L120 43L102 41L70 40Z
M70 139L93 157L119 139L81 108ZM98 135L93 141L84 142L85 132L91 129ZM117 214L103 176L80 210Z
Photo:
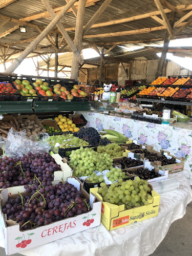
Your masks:
M90 176L94 170L102 172L113 168L113 159L108 154L99 154L90 147L80 147L72 150L70 155L70 166L74 169L76 177Z

